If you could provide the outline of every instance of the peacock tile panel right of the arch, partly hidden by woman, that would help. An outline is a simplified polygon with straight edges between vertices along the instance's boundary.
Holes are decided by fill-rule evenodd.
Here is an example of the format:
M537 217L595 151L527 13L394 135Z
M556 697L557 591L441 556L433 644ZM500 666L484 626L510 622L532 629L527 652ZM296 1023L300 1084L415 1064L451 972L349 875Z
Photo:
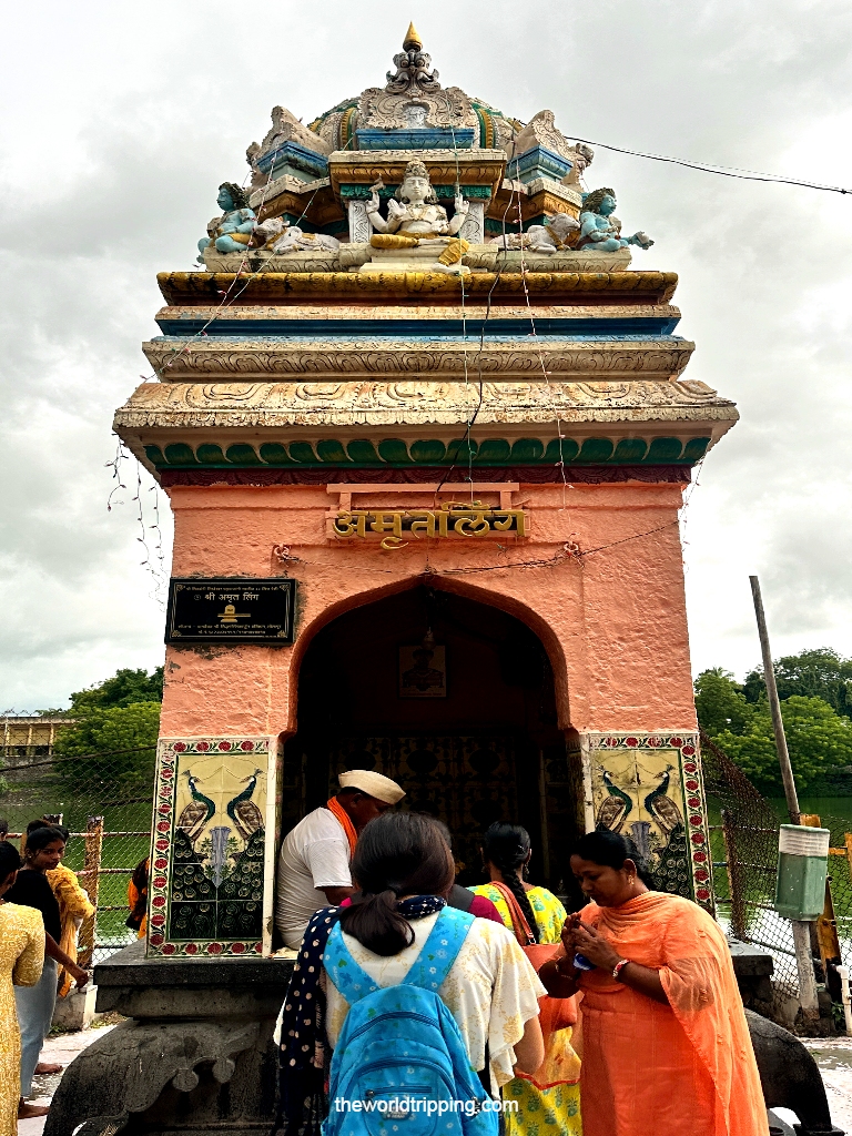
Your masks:
M699 738L588 734L594 822L629 837L657 886L712 912L712 872Z

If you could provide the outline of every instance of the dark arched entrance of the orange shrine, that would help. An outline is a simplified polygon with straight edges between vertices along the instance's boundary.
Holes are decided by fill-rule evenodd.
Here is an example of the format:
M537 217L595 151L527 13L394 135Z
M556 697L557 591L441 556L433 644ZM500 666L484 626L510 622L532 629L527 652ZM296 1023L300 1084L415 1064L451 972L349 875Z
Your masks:
M501 819L529 830L533 878L559 887L582 786L546 653L525 624L426 587L350 611L306 653L298 724L284 833L336 792L339 772L375 769L406 790L402 808L446 822L461 883L482 878L479 841Z

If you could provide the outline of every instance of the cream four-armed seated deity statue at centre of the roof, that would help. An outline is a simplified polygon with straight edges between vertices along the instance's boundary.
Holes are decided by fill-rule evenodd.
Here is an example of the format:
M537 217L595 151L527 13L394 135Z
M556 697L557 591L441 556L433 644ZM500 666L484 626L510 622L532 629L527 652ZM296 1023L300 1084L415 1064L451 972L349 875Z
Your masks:
M437 203L429 183L429 173L418 158L406 166L402 185L387 202L387 220L378 211L379 183L371 189L367 217L376 229L370 237L374 249L434 247L436 260L445 270L462 270L461 258L468 243L456 234L463 225L470 207L460 192L456 194L454 216L452 220L448 220L446 210Z

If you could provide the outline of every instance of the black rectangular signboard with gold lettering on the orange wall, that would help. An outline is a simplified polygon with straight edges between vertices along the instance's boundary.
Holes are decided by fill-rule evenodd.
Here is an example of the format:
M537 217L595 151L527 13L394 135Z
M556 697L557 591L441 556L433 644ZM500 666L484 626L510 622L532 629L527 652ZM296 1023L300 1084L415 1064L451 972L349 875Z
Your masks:
M167 643L293 642L294 579L173 579Z

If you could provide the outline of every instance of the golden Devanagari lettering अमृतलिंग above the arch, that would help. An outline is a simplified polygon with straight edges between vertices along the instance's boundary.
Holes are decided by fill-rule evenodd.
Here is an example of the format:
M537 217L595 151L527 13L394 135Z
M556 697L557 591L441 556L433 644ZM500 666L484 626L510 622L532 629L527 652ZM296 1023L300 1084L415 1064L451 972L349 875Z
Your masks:
M527 515L523 509L494 509L479 501L448 501L437 509L341 509L332 521L339 540L382 537L383 549L401 549L414 540L477 537L488 533L526 536Z

